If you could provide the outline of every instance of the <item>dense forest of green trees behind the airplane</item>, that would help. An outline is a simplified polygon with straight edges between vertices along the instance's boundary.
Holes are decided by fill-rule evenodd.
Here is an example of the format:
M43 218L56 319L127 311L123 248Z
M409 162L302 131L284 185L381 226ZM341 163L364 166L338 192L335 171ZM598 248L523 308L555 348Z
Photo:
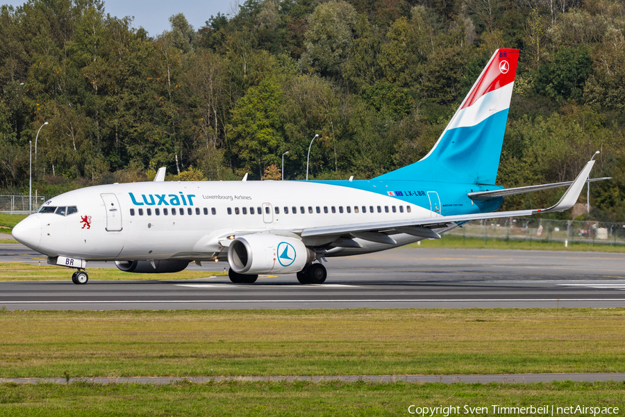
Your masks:
M247 0L156 34L103 10L1 6L3 193L28 193L35 138L33 187L49 197L161 166L168 180L280 179L284 158L302 180L316 134L310 179L369 179L422 158L505 47L521 58L497 184L570 181L600 151L592 177L612 179L592 183L585 216L625 221L621 0Z

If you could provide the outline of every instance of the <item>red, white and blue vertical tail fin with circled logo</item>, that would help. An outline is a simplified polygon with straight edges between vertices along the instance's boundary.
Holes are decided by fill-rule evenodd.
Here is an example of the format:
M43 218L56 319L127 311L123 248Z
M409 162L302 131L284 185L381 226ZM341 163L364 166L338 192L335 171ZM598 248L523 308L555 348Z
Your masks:
M494 184L518 60L497 49L431 151L376 179Z

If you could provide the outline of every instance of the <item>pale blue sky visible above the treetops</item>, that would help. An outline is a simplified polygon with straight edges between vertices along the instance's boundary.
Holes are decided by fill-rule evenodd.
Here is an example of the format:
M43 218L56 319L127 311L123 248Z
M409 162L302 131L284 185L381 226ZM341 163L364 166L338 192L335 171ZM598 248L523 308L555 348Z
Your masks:
M117 17L134 16L136 28L142 26L150 36L156 36L169 30L171 15L183 13L197 30L210 15L231 13L233 3L233 0L104 0L104 10ZM24 0L0 0L0 4L22 6Z

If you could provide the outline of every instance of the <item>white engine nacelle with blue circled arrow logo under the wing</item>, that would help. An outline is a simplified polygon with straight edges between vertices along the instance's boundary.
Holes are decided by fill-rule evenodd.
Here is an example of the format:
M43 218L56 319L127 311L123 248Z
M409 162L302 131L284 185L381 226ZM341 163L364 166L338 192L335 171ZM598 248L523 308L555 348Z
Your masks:
M299 272L315 257L301 240L270 234L241 236L228 247L230 268L239 274Z

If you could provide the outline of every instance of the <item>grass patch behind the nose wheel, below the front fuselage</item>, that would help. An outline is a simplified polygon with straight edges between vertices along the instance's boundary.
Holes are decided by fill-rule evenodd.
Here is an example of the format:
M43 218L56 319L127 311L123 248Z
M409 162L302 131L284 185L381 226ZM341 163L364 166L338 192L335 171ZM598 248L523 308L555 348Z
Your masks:
M42 261L41 266L25 263L0 263L0 281L67 281L72 277L74 270L62 266L49 266L45 263L45 260ZM117 268L88 268L88 272L90 280L101 281L167 281L170 279L201 279L228 275L224 272L206 272L193 270L193 268L194 265L192 264L188 266L188 269L181 272L167 274L135 274L123 272Z

